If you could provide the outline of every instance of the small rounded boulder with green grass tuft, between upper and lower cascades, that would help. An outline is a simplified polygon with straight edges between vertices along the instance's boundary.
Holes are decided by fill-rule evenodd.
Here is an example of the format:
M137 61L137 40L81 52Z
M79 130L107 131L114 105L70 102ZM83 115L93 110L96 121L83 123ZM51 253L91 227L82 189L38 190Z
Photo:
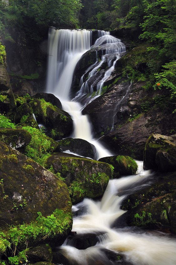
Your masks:
M99 161L108 163L114 167L114 178L135 175L138 169L136 161L128 156L102 157Z

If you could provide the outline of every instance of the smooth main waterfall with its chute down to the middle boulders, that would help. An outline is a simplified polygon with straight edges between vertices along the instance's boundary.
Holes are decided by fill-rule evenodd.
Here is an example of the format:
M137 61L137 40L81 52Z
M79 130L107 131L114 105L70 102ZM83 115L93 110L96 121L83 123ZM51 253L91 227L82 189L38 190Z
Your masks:
M101 37L109 39L109 32L99 31L98 34L99 39ZM78 102L69 101L76 63L90 49L90 41L91 31L50 29L46 92L59 98L63 109L71 115L74 122L74 133L71 137L92 143L97 150L97 159L99 159L110 156L111 153L93 139L88 117L81 114L83 106Z

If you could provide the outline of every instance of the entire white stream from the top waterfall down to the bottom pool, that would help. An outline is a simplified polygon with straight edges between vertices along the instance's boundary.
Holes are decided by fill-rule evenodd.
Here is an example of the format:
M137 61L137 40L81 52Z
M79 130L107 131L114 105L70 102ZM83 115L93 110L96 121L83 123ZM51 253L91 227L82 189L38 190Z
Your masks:
M47 92L58 97L63 109L71 115L74 121L74 133L71 137L81 138L94 144L98 158L110 156L111 153L93 139L88 117L81 114L85 106L79 102L79 99L89 94L86 99L86 104L88 104L100 96L103 83L111 75L116 60L120 58L120 53L125 51L125 46L109 33L99 31L99 38L92 47L102 46L106 49L106 54L102 56L100 62L97 60L93 66L90 66L87 70L90 71L88 80L83 82L83 77L81 78L80 91L75 99L69 100L74 69L81 56L90 49L91 31L51 29L49 40ZM94 93L93 88L88 84L89 79L96 75L108 54L112 55L115 60L112 63L112 59L109 59L109 68L97 84ZM94 97L91 96L93 93ZM119 228L118 225L113 227L115 221L125 213L120 208L122 201L128 195L150 185L152 173L143 170L142 162L138 161L138 164L139 169L135 176L110 180L101 201L84 199L80 204L73 206L73 213L77 214L73 218L72 230L81 235L96 234L98 243L93 247L79 250L72 245L71 240L67 239L59 251L71 263L80 265L122 264L120 261L110 261L105 252L105 249L108 249L123 254L125 260L123 264L129 264L128 262L135 265L176 264L175 239L156 231L151 233L129 227Z

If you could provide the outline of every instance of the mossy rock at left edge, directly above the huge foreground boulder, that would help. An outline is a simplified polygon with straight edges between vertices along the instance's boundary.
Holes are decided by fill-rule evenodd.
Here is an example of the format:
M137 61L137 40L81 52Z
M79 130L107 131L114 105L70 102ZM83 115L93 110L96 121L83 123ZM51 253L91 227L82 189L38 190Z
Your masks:
M0 141L20 151L31 142L31 139L31 134L24 129L0 128Z

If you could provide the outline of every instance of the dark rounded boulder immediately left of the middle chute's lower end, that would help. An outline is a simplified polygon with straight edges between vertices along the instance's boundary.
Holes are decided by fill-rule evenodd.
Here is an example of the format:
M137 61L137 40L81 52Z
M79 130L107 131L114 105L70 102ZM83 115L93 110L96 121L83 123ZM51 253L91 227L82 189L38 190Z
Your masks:
M96 158L95 146L83 139L66 138L59 141L61 151L69 150L70 152L76 153L82 157Z

